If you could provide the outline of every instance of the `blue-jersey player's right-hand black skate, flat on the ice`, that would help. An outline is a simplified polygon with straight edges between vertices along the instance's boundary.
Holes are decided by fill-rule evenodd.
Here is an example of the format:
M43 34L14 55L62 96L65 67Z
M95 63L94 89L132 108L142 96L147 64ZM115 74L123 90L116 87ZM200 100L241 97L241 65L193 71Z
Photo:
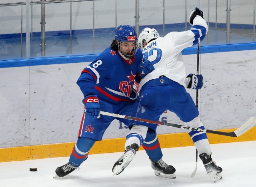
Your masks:
M149 158L150 159L150 158ZM176 169L172 165L166 164L162 159L154 162L151 161L151 167L155 170L155 175L159 177L166 177L169 179L176 179Z

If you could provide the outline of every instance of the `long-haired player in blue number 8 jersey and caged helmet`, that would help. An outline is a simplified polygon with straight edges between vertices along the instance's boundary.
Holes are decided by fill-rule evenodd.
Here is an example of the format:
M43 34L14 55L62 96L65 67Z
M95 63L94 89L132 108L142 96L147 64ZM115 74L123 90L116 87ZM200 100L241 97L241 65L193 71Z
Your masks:
M142 63L142 52L137 49L137 34L132 26L119 26L111 46L82 71L77 84L84 95L86 110L69 162L56 169L59 177L68 175L87 159L91 147L96 141L102 140L104 132L116 119L106 115L100 116L100 110L131 114L137 99L137 92L133 89L134 79L150 72L150 66ZM118 120L129 125L128 120Z

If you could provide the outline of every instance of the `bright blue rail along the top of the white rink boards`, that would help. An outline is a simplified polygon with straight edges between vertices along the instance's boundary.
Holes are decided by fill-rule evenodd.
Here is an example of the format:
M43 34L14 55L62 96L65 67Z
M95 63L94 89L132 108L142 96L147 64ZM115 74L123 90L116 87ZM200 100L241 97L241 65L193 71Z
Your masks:
M246 44L225 44L216 46L202 46L199 48L200 54L256 50L256 42ZM196 54L196 47L186 48L182 51L182 55ZM0 61L0 68L13 68L24 66L42 66L51 64L68 64L80 62L92 62L99 54L85 54L79 56L59 56L59 57L43 57L31 59L16 59Z

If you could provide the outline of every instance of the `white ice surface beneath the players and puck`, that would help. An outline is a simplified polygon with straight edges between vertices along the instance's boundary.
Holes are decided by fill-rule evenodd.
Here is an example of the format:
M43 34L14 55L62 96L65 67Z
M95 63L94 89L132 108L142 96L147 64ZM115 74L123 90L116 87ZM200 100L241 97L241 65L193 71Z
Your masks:
M157 177L145 151L138 151L130 165L112 176L112 167L122 155L106 153L89 155L88 160L62 178L52 177L58 166L69 157L13 161L0 163L0 187L255 187L256 141L214 144L212 158L223 169L223 179L213 183L198 160L198 170L190 178L196 165L195 147L162 149L163 160L176 168L176 179ZM71 150L70 150L71 151ZM37 167L38 171L29 171Z

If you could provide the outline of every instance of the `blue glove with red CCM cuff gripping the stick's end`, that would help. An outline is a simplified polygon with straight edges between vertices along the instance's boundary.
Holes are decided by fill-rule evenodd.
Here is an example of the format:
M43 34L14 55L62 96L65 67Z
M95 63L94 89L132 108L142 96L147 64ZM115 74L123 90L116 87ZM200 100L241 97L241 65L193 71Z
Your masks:
M94 119L100 117L100 103L97 95L88 95L84 97L83 103L85 105L85 114Z

